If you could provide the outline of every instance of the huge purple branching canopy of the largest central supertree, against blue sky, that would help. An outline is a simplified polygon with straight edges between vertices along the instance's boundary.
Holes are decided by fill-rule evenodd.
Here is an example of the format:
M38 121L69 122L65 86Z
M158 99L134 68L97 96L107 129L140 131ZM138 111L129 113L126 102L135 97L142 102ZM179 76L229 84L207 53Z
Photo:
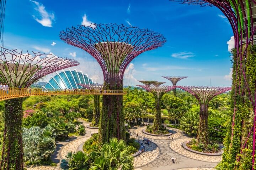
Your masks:
M92 55L102 68L104 80L122 80L124 70L136 56L166 42L164 36L152 30L117 24L67 28L60 32L60 39Z

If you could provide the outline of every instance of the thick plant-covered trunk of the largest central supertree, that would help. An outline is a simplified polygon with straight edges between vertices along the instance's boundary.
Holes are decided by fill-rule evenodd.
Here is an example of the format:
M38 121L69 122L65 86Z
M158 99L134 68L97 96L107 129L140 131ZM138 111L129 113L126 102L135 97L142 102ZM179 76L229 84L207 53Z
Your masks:
M103 89L123 90L123 85L112 80L110 83L104 83ZM104 90L102 93L104 93ZM102 98L98 142L107 142L112 137L126 140L123 95L103 95Z

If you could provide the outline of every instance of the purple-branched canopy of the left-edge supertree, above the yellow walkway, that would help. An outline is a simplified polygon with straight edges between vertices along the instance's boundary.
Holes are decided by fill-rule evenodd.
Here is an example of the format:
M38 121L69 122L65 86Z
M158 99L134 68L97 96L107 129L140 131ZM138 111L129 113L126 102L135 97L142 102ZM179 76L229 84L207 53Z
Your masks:
M79 63L72 59L46 55L40 52L26 53L2 48L0 51L0 83L10 87L28 87L47 74Z

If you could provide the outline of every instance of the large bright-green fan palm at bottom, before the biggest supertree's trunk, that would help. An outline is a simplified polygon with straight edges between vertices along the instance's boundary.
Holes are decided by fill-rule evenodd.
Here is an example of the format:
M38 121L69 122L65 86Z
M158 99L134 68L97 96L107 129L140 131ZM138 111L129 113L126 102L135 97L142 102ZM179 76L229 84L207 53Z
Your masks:
M126 142L117 138L104 143L90 170L133 170L133 156Z

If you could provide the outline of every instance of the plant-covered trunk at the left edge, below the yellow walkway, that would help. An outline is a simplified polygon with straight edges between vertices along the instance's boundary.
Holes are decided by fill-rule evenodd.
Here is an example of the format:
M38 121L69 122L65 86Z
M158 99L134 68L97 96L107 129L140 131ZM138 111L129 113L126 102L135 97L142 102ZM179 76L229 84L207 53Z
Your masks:
M22 98L5 101L1 170L23 170Z

